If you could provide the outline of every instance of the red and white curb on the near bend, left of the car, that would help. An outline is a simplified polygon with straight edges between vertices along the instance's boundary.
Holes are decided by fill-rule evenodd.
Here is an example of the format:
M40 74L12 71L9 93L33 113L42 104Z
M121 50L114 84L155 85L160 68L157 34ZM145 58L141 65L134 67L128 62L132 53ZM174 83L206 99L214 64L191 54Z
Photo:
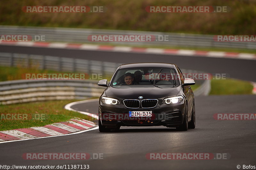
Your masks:
M96 126L93 122L74 117L67 122L52 123L43 127L0 131L0 143L83 133L98 129Z

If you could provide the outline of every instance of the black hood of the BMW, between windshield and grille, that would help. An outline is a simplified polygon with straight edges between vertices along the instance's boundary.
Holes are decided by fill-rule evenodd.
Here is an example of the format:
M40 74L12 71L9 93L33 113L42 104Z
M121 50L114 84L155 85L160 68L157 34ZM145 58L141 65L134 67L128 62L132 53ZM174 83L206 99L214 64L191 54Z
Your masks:
M173 88L159 88L159 87L150 87L150 88L113 88L108 87L105 91L107 97L121 98L121 99L139 99L139 96L142 96L143 99L155 99L163 97L172 97L176 96L180 91L180 86Z

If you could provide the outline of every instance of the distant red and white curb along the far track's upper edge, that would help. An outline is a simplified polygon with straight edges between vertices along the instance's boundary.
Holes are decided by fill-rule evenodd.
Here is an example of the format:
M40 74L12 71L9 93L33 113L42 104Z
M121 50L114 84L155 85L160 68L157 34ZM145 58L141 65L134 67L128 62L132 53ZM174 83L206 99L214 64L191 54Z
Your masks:
M33 42L33 41L28 41L28 42L0 41L0 45L43 47L43 48L66 48L66 49L112 51L112 52L126 52L126 53L145 53L145 54L159 54L159 55L180 55L180 56L186 55L186 56L203 56L203 57L213 57L213 58L234 58L234 59L256 60L256 54L221 52L221 51L200 51L200 50L185 50L185 49L164 49L164 48L139 48L139 47L125 47L125 46L121 47L121 46L110 46L110 45L74 44L74 43L60 43L60 42Z

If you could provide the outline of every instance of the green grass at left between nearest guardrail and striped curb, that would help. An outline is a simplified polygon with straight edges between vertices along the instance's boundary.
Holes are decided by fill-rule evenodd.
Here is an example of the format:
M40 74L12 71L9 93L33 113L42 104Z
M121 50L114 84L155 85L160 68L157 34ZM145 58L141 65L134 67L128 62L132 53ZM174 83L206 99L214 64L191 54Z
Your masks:
M45 126L54 122L64 122L72 117L91 120L90 116L64 109L64 106L70 102L78 100L57 100L40 101L33 103L21 103L12 105L0 105L1 113L10 114L45 114L45 118L31 120L0 120L0 131L17 128L29 128L35 126ZM30 117L30 116L28 116Z

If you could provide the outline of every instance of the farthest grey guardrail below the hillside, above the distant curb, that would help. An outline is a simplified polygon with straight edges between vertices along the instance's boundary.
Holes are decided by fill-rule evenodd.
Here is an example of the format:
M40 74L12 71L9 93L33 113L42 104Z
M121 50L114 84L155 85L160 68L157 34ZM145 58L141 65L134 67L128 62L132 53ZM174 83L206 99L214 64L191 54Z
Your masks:
M45 41L53 42L75 42L93 43L88 41L89 35L155 35L169 37L169 41L152 42L104 42L123 45L153 45L172 47L201 47L201 48L245 48L255 49L254 42L218 42L213 40L213 35L187 34L187 33L163 33L148 31L125 31L125 30L104 30L104 29L83 29L83 28L55 28L55 27L25 27L25 26L0 26L0 33L3 35L44 35ZM99 43L99 42L98 42Z

